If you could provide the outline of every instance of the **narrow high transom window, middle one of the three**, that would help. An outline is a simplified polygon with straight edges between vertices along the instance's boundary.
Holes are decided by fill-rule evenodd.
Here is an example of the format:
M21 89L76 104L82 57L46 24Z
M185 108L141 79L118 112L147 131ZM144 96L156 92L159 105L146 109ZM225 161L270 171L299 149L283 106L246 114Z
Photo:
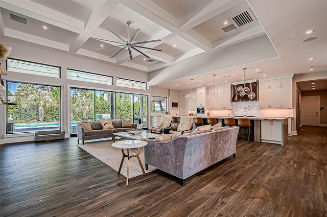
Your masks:
M67 69L67 79L107 85L112 85L113 81L113 77L111 76L103 76L73 69Z

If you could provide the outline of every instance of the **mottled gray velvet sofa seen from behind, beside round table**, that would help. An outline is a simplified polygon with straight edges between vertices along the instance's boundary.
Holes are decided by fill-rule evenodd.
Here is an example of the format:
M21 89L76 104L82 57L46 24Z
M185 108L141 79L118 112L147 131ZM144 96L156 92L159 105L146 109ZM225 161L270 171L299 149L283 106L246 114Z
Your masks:
M169 141L145 139L145 165L184 180L230 155L236 156L239 127L189 133ZM200 131L201 132L201 131Z

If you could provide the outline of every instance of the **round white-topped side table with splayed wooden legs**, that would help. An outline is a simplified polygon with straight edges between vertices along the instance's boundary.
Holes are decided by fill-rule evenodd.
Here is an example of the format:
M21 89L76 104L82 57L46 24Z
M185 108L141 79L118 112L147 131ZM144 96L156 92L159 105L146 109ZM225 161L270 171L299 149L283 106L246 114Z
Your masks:
M148 142L143 141L143 140L123 140L123 141L116 141L111 144L112 147L121 149L123 152L123 158L122 158L121 165L119 167L118 174L120 174L125 157L127 157L126 185L128 185L129 159L131 159L132 157L137 158L138 163L141 166L143 175L145 174L141 159L139 159L139 152L141 152L142 147L145 147L147 144L148 144ZM129 149L135 149L135 148L137 148L137 153L130 156ZM124 149L127 150L127 154L125 154Z

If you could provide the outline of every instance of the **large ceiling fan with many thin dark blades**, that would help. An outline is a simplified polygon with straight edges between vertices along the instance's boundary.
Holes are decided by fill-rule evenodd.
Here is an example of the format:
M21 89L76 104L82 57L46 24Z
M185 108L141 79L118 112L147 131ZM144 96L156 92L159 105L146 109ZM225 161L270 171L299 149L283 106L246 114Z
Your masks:
M111 58L115 57L117 54L119 54L120 52L122 52L126 47L128 49L128 52L129 52L129 57L131 60L133 60L133 57L132 57L132 52L131 52L131 49L134 49L135 51L137 51L138 53L146 56L147 58L150 59L150 57L148 55L146 55L145 53L143 53L142 51L139 51L138 49L136 49L135 47L141 47L141 48L145 48L145 49L149 49L149 50L153 50L153 51L162 51L162 50L158 50L158 49L154 49L154 48L151 48L151 47L144 47L144 46L138 46L137 44L144 44L144 43L149 43L149 42L156 42L156 41L161 41L160 39L157 39L157 40L151 40L151 41L141 41L141 42L135 42L133 43L133 40L135 39L135 37L137 36L137 34L139 33L140 29L137 29L134 33L134 35L129 39L129 25L131 23L130 22L126 22L126 25L127 25L127 31L128 31L128 38L127 38L127 41L124 41L124 39L122 37L120 37L118 34L116 34L112 29L110 28L107 28L107 30L109 30L110 32L112 32L115 36L117 36L119 39L121 39L123 42L118 42L118 41L111 41L111 40L105 40L105 39L100 39L100 38L94 38L94 39L98 39L98 40L101 40L101 41L110 41L110 42L113 42L113 43L118 43L120 45L116 45L116 46L112 46L112 47L122 47L121 50L119 50L118 52L116 52L114 55L112 55ZM96 50L102 50L102 49L107 49L107 48L110 48L110 47L103 47L103 48L100 48L100 49L96 49Z

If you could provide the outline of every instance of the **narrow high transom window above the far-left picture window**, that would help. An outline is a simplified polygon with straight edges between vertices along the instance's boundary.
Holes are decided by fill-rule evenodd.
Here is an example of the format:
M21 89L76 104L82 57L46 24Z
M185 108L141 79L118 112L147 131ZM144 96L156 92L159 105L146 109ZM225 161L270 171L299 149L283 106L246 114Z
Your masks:
M60 67L58 66L45 65L12 58L7 59L7 70L16 71L17 73L60 78Z

